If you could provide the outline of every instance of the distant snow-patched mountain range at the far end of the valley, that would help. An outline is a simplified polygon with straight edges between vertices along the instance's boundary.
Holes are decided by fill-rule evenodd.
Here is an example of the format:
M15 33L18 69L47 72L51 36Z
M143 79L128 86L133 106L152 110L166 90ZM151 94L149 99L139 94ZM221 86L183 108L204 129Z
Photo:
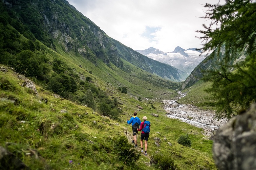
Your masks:
M201 50L197 48L183 49L177 46L172 52L163 52L159 49L150 47L146 50L136 50L151 59L169 64L179 70L187 73L187 76L194 70L194 68L206 57L201 54Z

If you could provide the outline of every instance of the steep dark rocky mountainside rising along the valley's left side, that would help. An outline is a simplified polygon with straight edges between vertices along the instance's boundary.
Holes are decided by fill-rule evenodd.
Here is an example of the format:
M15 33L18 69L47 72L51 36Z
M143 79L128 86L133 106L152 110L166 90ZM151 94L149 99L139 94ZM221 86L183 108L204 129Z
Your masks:
M4 2L18 14L19 19L32 31L35 38L47 44L48 47L54 48L55 43L59 43L66 52L78 53L94 64L97 64L98 58L106 64L112 62L121 68L123 66L121 58L123 58L139 68L163 78L172 81L185 79L184 73L180 70L151 61L151 59L138 59L138 54L136 56L132 49L123 51L121 48L127 47L121 43L116 44L115 40L108 37L97 25L81 15L67 1L34 0L28 3L25 0L4 0ZM139 55L139 58L144 57Z

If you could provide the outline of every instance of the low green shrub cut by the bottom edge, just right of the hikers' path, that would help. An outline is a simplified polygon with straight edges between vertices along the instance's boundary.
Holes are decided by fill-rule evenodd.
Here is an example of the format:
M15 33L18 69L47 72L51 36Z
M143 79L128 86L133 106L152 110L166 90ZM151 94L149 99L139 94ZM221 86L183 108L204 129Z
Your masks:
M150 164L155 164L157 167L160 167L160 169L163 170L176 169L176 166L174 165L174 161L171 159L171 156L163 155L160 153L153 155L150 160Z

